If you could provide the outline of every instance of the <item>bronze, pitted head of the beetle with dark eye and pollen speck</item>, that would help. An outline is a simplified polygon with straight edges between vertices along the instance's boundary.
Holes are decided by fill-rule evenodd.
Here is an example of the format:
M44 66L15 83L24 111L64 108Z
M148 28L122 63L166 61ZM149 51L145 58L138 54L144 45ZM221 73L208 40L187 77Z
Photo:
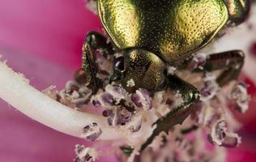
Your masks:
M128 92L138 88L156 91L164 83L164 62L143 49L130 49L117 58L110 82L121 83Z

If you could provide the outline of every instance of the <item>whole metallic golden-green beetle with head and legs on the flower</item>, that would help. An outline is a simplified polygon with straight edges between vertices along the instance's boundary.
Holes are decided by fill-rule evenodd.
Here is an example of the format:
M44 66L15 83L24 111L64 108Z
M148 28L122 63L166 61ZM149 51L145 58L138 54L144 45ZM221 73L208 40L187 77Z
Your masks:
M94 93L100 87L96 49L104 49L107 54L122 51L124 56L117 58L110 82L122 83L128 92L139 87L150 92L166 87L179 91L184 103L169 113L168 119L170 125L175 125L193 111L190 104L199 100L200 93L177 75L168 75L167 65L178 68L179 62L209 44L221 29L244 22L250 0L97 0L97 7L116 50L99 33L87 34L83 45L87 83ZM207 57L203 70L223 70L216 81L224 86L237 79L244 57L239 50L214 53ZM126 87L130 79L134 87ZM154 131L158 134L161 130Z

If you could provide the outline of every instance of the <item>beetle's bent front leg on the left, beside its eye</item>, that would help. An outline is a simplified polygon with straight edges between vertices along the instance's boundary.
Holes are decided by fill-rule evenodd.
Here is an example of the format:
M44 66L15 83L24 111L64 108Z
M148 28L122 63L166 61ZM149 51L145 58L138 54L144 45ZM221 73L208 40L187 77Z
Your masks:
M98 66L96 64L97 50L102 50L105 57L108 54L113 54L113 48L107 43L105 36L102 36L98 32L89 32L83 43L82 67L86 73L86 83L92 88L93 94L100 87L100 80L96 78L98 73Z

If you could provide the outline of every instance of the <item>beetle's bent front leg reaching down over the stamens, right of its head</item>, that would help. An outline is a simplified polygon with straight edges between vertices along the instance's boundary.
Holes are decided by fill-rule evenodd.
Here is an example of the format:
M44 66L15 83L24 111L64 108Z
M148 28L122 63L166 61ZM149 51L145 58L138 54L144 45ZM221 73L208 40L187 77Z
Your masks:
M161 131L168 132L173 126L181 124L194 110L194 106L192 105L200 98L200 93L196 87L190 83L186 83L176 75L168 75L167 83L173 91L181 94L183 102L154 123L156 129L153 130L153 133L147 139L146 143L143 143L141 151L143 151Z

